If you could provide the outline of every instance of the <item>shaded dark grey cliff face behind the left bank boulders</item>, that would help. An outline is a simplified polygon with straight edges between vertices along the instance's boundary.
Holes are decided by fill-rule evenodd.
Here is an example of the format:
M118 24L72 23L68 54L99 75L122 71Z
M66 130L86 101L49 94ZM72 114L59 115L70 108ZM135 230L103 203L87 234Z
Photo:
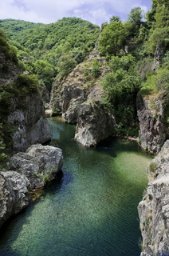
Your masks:
M19 108L19 104L19 98L12 100L8 116L8 122L16 126L13 135L14 153L25 151L32 144L48 142L51 138L40 94L26 96L22 107Z

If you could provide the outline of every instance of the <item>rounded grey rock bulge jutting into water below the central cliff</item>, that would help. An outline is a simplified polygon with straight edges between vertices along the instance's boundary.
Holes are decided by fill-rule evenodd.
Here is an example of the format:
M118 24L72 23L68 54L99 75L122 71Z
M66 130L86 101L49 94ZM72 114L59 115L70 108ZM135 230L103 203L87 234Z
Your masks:
M83 103L79 107L75 139L84 146L96 146L101 139L112 134L116 121L100 102Z

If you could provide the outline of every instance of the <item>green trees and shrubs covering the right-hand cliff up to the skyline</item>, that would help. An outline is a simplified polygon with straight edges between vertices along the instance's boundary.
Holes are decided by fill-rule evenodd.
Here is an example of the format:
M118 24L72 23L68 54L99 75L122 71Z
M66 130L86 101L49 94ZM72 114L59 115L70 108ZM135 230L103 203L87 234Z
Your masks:
M137 136L136 97L154 95L163 98L168 126L168 2L152 1L152 10L142 21L143 11L131 10L128 21L112 17L104 24L99 38L100 54L108 59L112 69L102 82L107 94L104 103L112 108L118 123L116 132Z

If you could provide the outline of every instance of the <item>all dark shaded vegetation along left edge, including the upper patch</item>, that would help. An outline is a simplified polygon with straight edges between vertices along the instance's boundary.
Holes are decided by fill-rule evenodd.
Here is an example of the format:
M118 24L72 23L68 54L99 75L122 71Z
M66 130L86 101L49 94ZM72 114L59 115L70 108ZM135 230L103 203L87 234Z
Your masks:
M18 66L18 58L12 47L10 47L6 35L0 30L0 78L3 74L9 74ZM14 66L11 65L14 63ZM10 76L9 76L10 77ZM8 122L8 114L10 114L10 104L14 98L18 98L17 108L24 108L26 95L37 93L38 80L36 76L18 74L13 82L6 81L6 84L0 85L0 166L6 162L7 155L12 149L12 134L16 131L16 127Z

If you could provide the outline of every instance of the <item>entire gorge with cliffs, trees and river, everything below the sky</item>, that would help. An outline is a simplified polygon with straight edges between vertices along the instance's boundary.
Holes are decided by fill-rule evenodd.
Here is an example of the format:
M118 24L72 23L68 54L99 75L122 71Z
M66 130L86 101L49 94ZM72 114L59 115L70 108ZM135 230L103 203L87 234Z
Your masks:
M153 0L146 20L134 8L128 21L113 16L101 30L80 18L48 25L0 20L7 34L0 30L2 255L51 247L49 255L168 256L168 8L166 0ZM49 144L50 129L50 146L41 146Z

